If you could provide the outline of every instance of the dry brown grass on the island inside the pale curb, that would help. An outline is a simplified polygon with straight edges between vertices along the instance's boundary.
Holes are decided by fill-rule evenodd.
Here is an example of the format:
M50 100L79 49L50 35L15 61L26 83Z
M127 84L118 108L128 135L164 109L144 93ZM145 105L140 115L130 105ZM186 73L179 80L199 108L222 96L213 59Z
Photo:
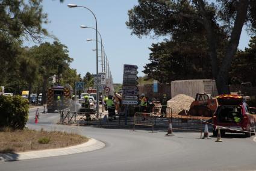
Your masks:
M60 131L35 131L31 129L13 131L0 130L0 153L36 151L42 149L64 148L85 143L89 138Z

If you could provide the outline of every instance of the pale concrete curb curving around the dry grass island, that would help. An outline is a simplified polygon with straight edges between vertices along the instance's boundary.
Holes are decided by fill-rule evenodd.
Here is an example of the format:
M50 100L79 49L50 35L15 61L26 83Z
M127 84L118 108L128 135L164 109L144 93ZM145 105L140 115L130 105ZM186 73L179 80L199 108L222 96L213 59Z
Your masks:
M70 146L67 148L45 149L41 151L19 152L16 154L0 154L0 162L19 161L34 158L56 157L60 155L78 154L81 152L95 151L105 147L101 141L90 138L89 141L81 145Z

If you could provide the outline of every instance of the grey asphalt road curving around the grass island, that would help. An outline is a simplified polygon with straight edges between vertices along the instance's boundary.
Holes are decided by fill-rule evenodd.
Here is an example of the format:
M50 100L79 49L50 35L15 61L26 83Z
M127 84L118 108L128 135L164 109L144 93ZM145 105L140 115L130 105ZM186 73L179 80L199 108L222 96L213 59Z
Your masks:
M57 113L40 114L34 124L35 110L30 112L31 129L77 132L106 143L98 151L61 157L0 163L0 170L256 170L256 142L243 135L199 139L195 132L151 133L146 130L104 129L90 126L56 125Z

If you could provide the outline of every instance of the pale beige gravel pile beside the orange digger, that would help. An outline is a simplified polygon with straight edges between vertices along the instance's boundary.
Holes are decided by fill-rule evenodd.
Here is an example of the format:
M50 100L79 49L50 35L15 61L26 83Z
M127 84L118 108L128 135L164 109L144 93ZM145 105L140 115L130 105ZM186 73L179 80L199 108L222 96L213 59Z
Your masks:
M176 95L167 102L167 107L172 108L173 114L178 114L183 110L189 111L190 105L195 101L194 98L187 95Z

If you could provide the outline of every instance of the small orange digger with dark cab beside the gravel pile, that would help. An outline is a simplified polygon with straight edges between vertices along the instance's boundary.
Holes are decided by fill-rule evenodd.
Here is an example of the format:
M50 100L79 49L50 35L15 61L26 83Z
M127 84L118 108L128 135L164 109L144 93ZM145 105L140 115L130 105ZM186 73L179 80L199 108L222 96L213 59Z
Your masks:
M213 116L218 106L217 99L205 93L196 93L196 99L190 105L189 114L191 116Z

